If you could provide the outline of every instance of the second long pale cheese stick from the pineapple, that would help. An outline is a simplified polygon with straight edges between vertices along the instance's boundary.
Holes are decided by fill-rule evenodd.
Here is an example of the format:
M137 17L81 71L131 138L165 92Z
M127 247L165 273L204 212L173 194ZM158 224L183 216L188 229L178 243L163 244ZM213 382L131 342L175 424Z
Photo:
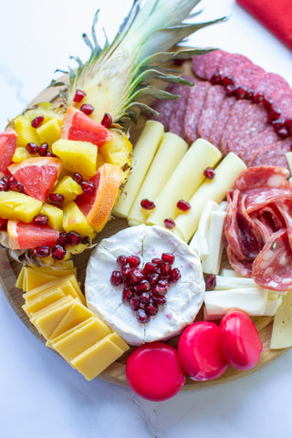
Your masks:
M154 201L157 198L187 149L188 144L178 135L172 132L166 132L163 135L159 150L130 209L128 222L131 226L145 224L151 210L142 208L141 200Z

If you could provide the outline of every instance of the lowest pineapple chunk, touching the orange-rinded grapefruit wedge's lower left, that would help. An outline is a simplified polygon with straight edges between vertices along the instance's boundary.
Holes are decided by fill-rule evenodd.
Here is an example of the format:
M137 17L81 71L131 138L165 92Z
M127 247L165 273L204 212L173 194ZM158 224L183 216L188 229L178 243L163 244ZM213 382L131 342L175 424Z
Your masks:
M63 207L63 228L68 233L69 231L76 231L79 235L90 238L94 236L94 229L89 224L85 215L79 210L78 205L71 201Z

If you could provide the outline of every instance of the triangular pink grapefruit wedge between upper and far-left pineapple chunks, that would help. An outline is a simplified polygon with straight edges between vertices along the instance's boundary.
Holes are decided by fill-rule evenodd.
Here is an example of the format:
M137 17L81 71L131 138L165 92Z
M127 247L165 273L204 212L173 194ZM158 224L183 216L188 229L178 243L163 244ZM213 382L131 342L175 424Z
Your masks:
M58 158L36 157L12 164L8 170L22 183L24 193L44 203L62 168L63 162Z

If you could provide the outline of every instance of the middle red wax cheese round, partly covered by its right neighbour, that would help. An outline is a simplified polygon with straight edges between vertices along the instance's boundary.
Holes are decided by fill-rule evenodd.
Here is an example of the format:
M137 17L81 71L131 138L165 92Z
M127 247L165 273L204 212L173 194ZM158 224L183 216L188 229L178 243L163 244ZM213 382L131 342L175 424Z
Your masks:
M179 360L193 381L212 381L228 367L219 346L219 327L200 321L184 329L178 344Z

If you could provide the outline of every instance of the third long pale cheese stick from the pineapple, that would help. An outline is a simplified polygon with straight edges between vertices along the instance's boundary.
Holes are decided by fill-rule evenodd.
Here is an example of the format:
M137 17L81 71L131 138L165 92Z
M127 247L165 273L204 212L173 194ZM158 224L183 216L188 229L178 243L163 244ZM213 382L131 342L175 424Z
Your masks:
M188 202L191 199L203 183L204 170L214 167L221 157L221 152L209 141L194 141L155 200L155 210L148 217L146 224L164 226L164 219L175 219L180 213L176 206L178 201L183 199Z

